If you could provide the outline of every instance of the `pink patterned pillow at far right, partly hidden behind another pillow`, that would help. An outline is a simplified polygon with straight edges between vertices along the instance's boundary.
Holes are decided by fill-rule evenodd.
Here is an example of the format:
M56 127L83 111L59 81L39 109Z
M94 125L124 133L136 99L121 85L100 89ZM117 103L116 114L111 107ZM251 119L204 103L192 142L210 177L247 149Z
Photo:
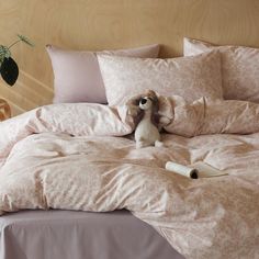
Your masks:
M224 98L259 103L259 48L213 46L210 43L184 38L184 56L212 49L219 49L222 54Z

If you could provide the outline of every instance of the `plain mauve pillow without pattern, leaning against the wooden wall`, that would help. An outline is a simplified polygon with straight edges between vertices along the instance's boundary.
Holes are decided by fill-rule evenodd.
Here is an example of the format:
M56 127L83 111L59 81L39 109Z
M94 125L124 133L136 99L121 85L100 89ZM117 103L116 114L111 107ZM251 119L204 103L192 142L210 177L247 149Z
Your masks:
M97 53L64 50L47 45L54 71L54 103L95 102L106 103ZM159 45L101 53L131 57L157 57Z

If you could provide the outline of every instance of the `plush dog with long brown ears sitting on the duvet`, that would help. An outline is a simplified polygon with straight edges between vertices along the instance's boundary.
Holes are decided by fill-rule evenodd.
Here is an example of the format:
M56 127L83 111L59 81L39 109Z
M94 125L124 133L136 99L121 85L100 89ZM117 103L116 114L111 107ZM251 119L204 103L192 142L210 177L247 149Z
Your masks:
M136 148L162 146L156 123L156 114L159 108L156 93L149 90L146 95L140 98L138 106L142 111L142 119L135 130Z

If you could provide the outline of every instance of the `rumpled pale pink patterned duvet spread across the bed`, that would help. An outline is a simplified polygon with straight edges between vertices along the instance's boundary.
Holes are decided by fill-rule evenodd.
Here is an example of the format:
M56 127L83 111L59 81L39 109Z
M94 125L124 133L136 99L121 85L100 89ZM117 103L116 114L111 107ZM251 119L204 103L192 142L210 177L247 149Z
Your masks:
M56 104L2 122L0 214L127 209L187 258L259 258L259 105L201 99L170 111L165 130L178 135L160 148L123 137L135 126L125 106ZM229 176L190 180L168 160Z

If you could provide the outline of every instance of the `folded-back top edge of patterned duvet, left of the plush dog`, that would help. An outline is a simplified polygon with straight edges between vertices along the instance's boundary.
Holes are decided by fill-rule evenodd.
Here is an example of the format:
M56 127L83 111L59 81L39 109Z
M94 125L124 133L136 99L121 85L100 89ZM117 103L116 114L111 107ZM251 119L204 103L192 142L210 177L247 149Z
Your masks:
M127 109L101 104L53 104L36 108L0 123L0 159L32 134L53 132L72 136L124 136L133 132Z

